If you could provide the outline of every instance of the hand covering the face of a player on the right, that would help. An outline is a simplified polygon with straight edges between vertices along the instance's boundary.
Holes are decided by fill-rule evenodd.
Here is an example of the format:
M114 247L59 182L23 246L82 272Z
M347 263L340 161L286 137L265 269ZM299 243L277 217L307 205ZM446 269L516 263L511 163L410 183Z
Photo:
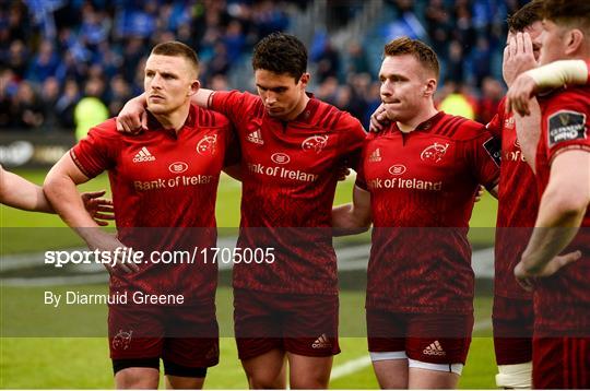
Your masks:
M535 67L536 60L529 33L508 34L502 63L502 74L506 84L511 86L519 74Z

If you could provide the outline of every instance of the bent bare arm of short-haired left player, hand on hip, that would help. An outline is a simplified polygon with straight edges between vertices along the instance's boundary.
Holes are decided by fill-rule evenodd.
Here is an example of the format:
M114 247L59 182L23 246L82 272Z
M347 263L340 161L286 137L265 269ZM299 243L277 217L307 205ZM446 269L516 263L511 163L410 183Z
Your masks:
M101 251L114 252L117 248L125 249L125 245L114 235L99 229L96 222L84 209L75 187L88 179L68 153L49 170L43 190L63 222L84 239L91 250L99 249ZM111 273L115 268L126 273L139 270L134 263L116 263L106 265L106 268Z

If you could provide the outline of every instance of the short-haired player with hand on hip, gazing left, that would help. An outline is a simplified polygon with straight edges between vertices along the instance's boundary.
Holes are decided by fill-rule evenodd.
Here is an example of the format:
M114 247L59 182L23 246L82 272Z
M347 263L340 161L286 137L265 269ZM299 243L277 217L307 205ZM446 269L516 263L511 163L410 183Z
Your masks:
M198 70L197 55L185 44L155 46L144 71L146 129L130 137L117 132L115 119L98 125L45 181L60 216L91 249L129 247L145 253L141 263L109 268L110 295L129 298L126 305L109 304L117 388L157 388L162 358L168 387L198 389L206 368L219 362L216 264L204 257L175 264L148 257L215 247L215 192L232 129L221 114L191 104ZM95 228L75 189L104 170L115 200L117 237ZM150 306L134 299L143 295L165 300Z

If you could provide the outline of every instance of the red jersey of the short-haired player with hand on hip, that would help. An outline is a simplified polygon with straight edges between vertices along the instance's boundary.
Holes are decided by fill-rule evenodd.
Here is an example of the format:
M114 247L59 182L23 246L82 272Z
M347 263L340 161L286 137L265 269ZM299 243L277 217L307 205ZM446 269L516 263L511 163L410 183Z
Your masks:
M215 247L215 193L232 139L227 118L191 106L176 134L150 118L139 135L119 133L115 119L91 129L70 155L87 176L108 170L119 240L146 257L140 271L113 275L110 291L214 297L217 268L197 251L194 263L153 263L152 251ZM174 228L173 228L174 227ZM192 228L192 229L191 229Z

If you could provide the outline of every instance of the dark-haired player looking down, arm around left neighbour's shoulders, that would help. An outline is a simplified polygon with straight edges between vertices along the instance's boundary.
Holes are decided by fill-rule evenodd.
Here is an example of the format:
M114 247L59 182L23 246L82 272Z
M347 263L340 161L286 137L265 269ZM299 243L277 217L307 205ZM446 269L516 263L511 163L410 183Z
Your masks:
M234 265L238 355L251 388L327 388L338 344L331 208L342 166L355 167L365 132L350 114L306 93L307 50L271 34L253 50L258 96L200 90L193 102L225 114L241 146L237 247L274 247L274 262ZM140 125L143 99L119 118ZM286 358L286 362L285 362Z

